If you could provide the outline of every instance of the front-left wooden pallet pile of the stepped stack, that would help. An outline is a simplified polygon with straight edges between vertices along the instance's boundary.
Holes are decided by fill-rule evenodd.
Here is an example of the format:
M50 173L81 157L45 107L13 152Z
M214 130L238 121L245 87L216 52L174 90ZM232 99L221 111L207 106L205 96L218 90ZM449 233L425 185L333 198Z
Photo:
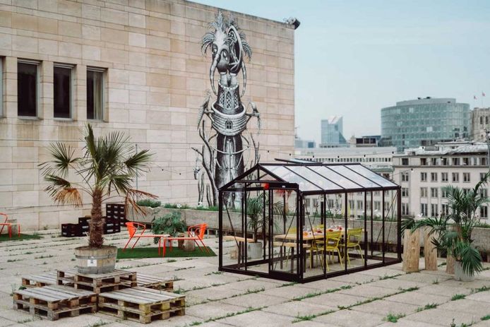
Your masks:
M97 295L69 286L44 286L13 292L13 309L58 320L97 311Z

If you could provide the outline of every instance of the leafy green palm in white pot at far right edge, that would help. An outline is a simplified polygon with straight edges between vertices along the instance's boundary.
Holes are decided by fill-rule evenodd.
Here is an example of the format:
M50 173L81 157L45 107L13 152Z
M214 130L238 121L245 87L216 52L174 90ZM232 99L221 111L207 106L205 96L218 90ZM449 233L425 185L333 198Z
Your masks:
M449 215L423 218L415 222L412 229L429 227L429 234L434 234L433 244L436 249L445 251L448 256L455 259L455 278L462 281L474 279L474 274L482 271L482 256L472 242L472 230L479 224L477 210L488 199L480 192L486 185L486 174L482 182L478 182L474 189L464 191L458 187L446 186L444 189L450 208Z

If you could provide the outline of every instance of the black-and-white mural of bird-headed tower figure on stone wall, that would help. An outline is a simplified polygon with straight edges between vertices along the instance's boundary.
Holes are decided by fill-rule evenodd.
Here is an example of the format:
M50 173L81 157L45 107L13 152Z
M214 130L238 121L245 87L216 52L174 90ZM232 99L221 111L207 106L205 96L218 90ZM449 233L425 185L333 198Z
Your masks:
M244 172L249 164L255 165L259 160L258 143L247 131L247 123L256 117L260 132L260 114L253 102L246 107L241 102L246 90L245 59L251 58L252 52L243 32L239 30L233 16L226 18L221 11L210 23L212 31L203 36L203 55L210 50L212 61L209 79L213 94L208 91L208 97L198 112L199 136L204 145L201 149L193 148L201 158L201 165L210 184L205 189L208 205L217 203L217 189ZM215 75L219 74L217 83ZM241 74L240 74L241 73ZM241 88L239 79L241 79ZM217 84L217 85L215 85ZM210 104L211 98L216 100ZM206 120L210 126L206 126ZM253 158L250 152L253 148ZM201 168L194 169L198 179L199 201L204 196L204 173ZM233 206L236 196L228 196L225 201Z

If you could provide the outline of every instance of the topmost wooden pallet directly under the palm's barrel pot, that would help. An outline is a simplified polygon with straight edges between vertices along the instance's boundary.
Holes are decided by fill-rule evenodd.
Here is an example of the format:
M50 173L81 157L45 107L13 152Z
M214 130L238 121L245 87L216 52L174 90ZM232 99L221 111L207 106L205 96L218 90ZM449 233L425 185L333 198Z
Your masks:
M136 272L114 270L112 273L78 273L77 270L58 270L56 283L73 283L76 289L90 290L97 294L119 290L121 283L136 286Z

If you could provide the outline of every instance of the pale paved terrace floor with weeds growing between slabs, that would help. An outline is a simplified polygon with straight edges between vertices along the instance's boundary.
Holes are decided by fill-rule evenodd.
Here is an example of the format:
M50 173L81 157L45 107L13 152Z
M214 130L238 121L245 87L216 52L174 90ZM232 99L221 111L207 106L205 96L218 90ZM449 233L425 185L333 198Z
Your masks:
M20 276L74 266L73 249L83 238L43 231L42 239L0 243L0 326L143 326L105 314L41 320L13 310L12 290ZM126 233L107 235L122 246ZM206 243L217 251L217 238ZM421 268L423 268L423 261ZM490 268L490 266L486 266ZM490 326L490 269L471 283L439 271L405 274L401 264L307 284L217 272L217 257L121 260L116 268L175 278L186 295L186 315L150 326ZM461 299L452 300L455 295ZM402 316L397 323L388 315Z

